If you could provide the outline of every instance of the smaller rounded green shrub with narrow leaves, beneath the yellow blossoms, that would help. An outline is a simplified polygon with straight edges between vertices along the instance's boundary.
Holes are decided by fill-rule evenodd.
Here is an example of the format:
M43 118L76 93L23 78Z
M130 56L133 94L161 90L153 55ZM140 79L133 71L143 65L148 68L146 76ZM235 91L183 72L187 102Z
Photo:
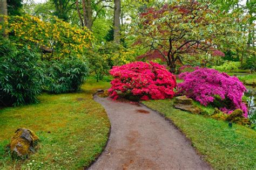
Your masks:
M87 63L78 58L49 61L46 68L45 89L56 94L79 90L89 73Z

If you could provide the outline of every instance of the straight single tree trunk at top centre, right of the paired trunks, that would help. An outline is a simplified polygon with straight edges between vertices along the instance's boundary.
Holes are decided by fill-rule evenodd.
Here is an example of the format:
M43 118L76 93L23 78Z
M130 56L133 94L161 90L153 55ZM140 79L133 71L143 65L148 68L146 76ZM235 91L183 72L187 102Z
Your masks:
M114 0L114 42L120 44L120 12L121 1Z

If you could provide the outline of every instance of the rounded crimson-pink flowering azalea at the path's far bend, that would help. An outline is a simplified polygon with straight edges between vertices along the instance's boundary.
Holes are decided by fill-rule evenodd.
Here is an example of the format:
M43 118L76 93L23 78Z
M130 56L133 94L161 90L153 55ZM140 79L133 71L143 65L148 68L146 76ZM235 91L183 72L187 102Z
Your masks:
M174 95L176 77L158 63L131 62L114 66L110 74L114 80L109 93L114 100L118 93L138 96L140 100L172 98Z

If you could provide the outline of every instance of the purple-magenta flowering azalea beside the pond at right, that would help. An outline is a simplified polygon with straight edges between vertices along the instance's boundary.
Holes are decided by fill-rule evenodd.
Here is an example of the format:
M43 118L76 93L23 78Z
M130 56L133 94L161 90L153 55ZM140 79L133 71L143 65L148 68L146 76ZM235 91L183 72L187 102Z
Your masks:
M237 77L220 73L215 69L197 68L191 73L179 75L184 82L178 84L178 94L184 94L203 105L212 103L216 96L222 101L229 101L228 107L219 108L230 114L235 109L241 109L247 117L247 107L242 103L245 86Z

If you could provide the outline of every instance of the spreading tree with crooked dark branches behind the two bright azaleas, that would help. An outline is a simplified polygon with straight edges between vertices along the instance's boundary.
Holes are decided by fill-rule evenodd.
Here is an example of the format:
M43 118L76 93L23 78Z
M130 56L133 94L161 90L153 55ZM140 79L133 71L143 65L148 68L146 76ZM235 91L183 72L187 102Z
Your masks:
M224 44L233 47L244 44L244 36L235 22L242 17L220 12L206 3L179 1L161 8L149 8L135 22L138 43L158 52L167 61L170 72L176 71L177 62L183 63L189 55L213 53Z

